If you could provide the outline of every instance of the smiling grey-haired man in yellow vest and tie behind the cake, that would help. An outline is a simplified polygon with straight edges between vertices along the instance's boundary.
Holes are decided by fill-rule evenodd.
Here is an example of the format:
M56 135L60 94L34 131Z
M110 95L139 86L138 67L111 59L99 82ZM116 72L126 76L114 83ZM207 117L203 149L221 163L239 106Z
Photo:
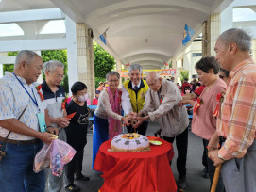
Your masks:
M145 80L142 79L143 68L139 64L133 64L128 69L127 80L122 89L122 106L126 115L133 116L139 113L145 104L145 93L149 89ZM147 120L138 127L138 133L145 136ZM128 126L128 133L132 132L132 126ZM137 132L137 131L136 131Z

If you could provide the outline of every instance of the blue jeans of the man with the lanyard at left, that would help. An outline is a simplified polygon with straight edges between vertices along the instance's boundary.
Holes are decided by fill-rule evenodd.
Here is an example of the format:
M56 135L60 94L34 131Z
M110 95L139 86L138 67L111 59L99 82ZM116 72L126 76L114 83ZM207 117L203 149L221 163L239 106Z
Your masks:
M1 192L43 192L45 172L33 171L35 155L42 147L40 140L34 144L6 144L7 155L0 163Z

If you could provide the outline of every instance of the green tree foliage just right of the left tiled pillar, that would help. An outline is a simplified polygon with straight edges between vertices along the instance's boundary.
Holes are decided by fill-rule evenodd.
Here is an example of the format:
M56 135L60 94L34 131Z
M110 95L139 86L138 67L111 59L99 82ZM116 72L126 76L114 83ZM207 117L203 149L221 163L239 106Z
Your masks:
M97 43L94 43L94 71L95 77L105 78L114 68L114 58ZM95 78L96 79L96 78ZM96 83L96 82L95 82Z

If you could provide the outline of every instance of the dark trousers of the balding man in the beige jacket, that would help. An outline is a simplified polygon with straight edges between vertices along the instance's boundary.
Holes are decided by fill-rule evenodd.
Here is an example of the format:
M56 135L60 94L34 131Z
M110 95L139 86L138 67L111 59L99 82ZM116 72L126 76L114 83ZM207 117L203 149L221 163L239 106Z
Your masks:
M188 128L186 128L183 133L174 137L166 137L163 136L163 139L168 141L169 143L173 143L174 139L176 139L176 147L178 151L177 158L177 170L179 172L180 177L186 176L186 162L187 162L187 150L188 150ZM171 164L171 162L170 162Z

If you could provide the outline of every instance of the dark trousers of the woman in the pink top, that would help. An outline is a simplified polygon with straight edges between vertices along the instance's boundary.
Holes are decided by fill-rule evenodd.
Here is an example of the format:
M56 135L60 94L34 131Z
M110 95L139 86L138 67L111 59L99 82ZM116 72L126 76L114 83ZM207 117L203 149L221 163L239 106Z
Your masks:
M209 143L208 140L203 139L204 150L207 153L208 153L208 150L207 150L208 143ZM213 177L214 177L214 173L215 173L215 167L213 165L213 161L210 158L208 158L208 155L207 155L207 167L208 167L208 174L209 174L209 178L210 178L210 182L211 182L211 185L210 185L210 188L211 188L212 184L213 184ZM225 187L224 187L221 175L219 176L216 192L225 192Z

